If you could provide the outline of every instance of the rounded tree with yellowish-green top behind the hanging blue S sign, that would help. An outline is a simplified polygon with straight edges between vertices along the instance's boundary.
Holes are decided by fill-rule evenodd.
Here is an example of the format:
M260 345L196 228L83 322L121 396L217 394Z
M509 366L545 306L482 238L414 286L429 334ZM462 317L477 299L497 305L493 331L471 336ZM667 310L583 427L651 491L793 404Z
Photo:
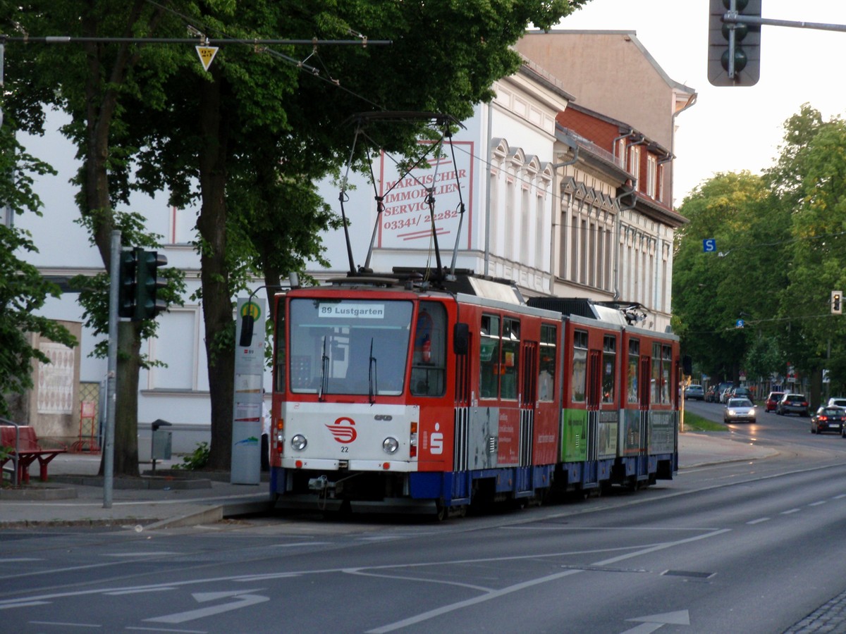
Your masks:
M779 257L789 216L750 172L715 175L684 199L679 213L689 224L676 233L673 329L703 370L736 381L752 343L772 337L786 283ZM717 253L703 252L709 238Z

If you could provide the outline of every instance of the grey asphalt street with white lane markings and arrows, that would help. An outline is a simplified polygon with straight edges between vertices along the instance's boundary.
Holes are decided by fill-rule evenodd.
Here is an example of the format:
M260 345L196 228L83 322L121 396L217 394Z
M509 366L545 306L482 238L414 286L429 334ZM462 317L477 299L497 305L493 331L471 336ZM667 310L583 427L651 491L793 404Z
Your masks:
M762 413L730 434L772 458L442 523L5 531L0 609L19 632L786 631L846 589L846 440L808 429Z

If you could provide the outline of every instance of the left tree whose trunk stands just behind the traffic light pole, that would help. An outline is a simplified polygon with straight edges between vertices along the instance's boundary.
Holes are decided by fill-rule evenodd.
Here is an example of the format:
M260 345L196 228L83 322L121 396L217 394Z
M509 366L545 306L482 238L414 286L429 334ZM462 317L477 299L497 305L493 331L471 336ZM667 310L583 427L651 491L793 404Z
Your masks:
M165 17L163 9L144 0L36 2L15 5L3 24L9 33L70 36L132 36L149 34ZM15 19L16 18L16 19ZM76 183L80 214L91 228L106 271L111 267L114 206L128 204L130 168L135 148L126 137L122 97L144 90L134 69L140 49L127 42L107 46L87 41L82 46L18 46L7 55L8 105L21 128L41 134L44 104L59 107L72 118L63 132L73 139L82 161ZM149 89L156 76L140 78ZM141 367L139 322L118 325L118 399L115 411L114 473L137 475L138 376ZM114 333L111 334L114 336ZM102 470L102 467L101 467Z

